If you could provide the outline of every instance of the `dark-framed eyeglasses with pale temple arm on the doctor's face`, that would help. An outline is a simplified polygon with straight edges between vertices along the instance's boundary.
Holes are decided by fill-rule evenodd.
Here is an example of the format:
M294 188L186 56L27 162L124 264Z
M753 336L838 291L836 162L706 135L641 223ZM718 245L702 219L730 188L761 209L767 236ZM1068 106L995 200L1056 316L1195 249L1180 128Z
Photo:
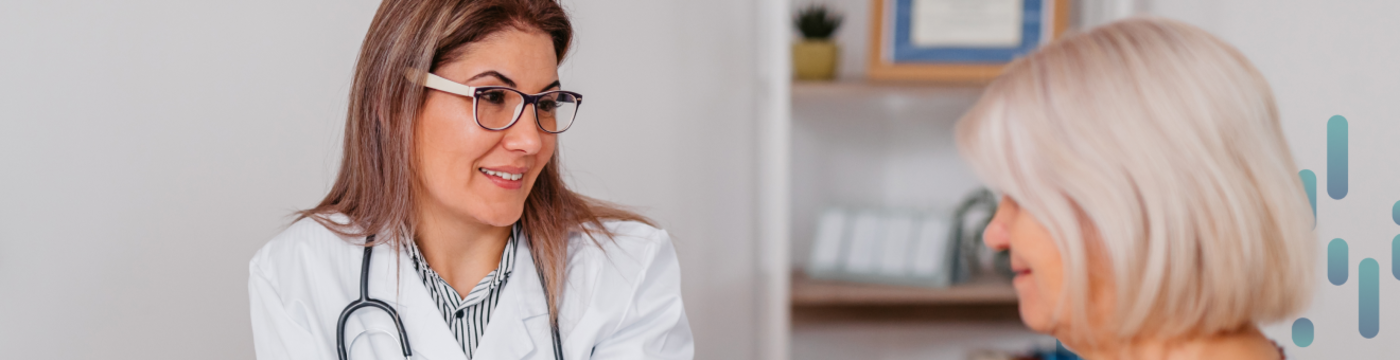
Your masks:
M546 133L563 133L574 125L584 95L574 91L525 94L508 87L473 87L445 77L409 70L410 81L423 87L472 98L472 119L487 130L505 130L521 119L525 105L533 105L535 123Z

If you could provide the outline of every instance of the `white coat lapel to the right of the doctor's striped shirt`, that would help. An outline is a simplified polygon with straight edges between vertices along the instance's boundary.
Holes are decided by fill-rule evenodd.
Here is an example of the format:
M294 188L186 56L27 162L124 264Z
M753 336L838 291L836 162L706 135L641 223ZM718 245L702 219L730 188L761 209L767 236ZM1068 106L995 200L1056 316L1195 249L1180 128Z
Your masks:
M524 238L522 238L524 240ZM486 325L482 343L473 360L498 359L550 359L553 338L549 333L549 307L545 303L545 289L535 270L529 241L517 241L515 269L501 290L500 303L491 322Z

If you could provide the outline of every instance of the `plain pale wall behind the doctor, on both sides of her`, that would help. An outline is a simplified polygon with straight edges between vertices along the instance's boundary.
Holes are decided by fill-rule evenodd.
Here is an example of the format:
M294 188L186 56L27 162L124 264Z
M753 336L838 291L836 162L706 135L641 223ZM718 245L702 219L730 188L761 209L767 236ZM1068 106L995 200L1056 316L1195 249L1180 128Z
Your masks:
M252 357L246 261L329 188L377 4L0 4L3 357ZM756 4L566 6L566 171L675 235L699 357L752 359Z

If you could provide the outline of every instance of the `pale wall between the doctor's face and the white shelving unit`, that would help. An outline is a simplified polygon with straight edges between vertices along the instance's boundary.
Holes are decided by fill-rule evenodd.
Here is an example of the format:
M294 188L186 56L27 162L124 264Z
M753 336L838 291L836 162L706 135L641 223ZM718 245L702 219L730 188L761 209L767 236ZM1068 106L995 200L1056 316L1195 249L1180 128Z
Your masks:
M588 94L564 168L671 231L697 359L757 352L756 41L745 0L566 1L561 81Z

